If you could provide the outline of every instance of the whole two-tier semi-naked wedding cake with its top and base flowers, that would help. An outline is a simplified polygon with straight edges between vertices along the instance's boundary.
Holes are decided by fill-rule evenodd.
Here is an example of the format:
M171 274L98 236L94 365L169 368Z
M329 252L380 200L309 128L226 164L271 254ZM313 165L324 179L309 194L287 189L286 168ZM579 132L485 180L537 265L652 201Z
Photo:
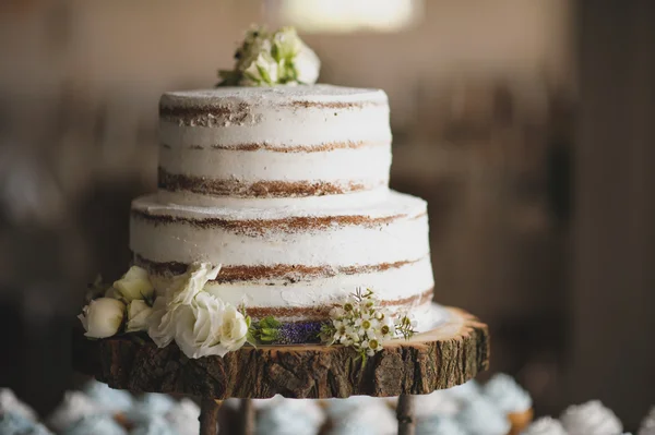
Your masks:
M443 321L425 201L389 189L389 101L314 84L283 27L253 28L212 89L159 100L158 191L133 201L133 265L94 285L86 336L188 358L322 342L360 357Z

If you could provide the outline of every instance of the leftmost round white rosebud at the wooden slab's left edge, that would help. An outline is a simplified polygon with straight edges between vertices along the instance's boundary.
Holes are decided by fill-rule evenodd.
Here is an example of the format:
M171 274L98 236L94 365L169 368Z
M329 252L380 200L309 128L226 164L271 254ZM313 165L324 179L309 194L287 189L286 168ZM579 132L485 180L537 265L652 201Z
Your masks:
M86 337L111 337L122 324L126 304L111 298L99 298L91 301L82 310L78 318L86 329Z

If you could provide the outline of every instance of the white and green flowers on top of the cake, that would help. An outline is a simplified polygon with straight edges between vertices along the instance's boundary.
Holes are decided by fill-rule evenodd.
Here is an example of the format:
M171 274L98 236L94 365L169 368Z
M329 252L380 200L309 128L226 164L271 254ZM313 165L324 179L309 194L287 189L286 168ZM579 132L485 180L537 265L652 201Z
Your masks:
M235 53L234 70L221 70L218 86L273 86L313 84L321 61L298 37L294 27L270 33L253 27Z

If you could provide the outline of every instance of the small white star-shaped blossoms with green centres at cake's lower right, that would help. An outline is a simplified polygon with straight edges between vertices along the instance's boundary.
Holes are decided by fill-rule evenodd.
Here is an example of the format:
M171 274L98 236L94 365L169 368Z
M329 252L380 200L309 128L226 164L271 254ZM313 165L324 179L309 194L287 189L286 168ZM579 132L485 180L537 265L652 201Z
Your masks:
M330 311L331 324L323 328L329 345L349 346L362 358L382 350L382 343L396 337L409 338L416 322L409 314L394 315L384 309L370 289L356 293Z

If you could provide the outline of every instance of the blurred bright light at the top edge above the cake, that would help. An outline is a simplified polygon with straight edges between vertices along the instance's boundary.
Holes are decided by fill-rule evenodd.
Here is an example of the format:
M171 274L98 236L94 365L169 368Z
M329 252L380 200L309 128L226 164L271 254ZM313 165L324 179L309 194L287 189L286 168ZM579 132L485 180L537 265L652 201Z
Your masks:
M424 0L273 0L279 21L305 33L397 32L422 15Z

